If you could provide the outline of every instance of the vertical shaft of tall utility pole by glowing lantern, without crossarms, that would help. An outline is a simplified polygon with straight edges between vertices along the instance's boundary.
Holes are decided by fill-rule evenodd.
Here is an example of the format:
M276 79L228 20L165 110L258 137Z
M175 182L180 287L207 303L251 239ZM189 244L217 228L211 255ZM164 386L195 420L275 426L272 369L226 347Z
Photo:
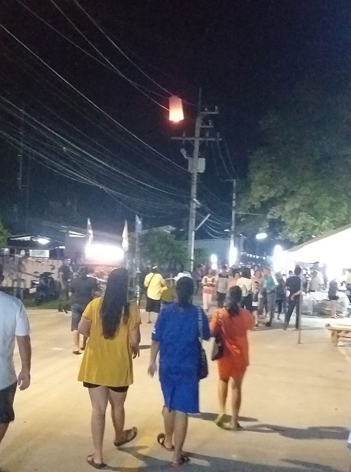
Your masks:
M198 116L195 123L194 136L194 154L193 167L191 170L191 191L190 191L190 210L189 210L189 232L188 232L188 261L190 272L194 270L194 246L195 246L195 227L196 227L196 205L197 205L197 186L199 169L199 150L200 150L200 132L201 132L201 89L199 90Z

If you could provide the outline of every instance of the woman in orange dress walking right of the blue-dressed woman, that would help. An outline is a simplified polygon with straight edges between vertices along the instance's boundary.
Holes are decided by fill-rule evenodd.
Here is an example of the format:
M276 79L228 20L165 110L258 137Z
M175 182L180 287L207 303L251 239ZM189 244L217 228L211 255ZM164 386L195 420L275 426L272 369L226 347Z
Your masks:
M249 344L247 331L253 328L251 313L240 307L241 289L232 287L226 307L216 310L212 317L210 329L213 335L220 335L223 340L223 356L218 359L218 398L220 412L216 419L217 426L238 431L238 415L241 405L241 383L249 365ZM224 424L228 383L232 387L233 416L229 425Z

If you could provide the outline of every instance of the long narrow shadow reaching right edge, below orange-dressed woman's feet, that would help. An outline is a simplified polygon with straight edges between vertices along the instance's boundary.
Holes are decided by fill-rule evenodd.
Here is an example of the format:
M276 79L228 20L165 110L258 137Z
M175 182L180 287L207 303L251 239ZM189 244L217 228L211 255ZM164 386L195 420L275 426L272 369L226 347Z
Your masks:
M278 433L281 436L292 439L337 439L347 440L349 431L339 426L313 426L310 428L287 428L276 424L258 424L253 428L245 428L245 431L256 433Z

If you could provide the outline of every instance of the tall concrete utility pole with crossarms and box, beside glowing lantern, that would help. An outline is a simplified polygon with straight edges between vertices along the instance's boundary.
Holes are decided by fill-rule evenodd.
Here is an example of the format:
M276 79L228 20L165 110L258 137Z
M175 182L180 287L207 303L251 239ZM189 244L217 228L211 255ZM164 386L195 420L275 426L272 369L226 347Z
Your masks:
M197 201L197 187L198 187L198 173L205 172L205 159L200 158L200 144L207 141L221 141L221 138L209 137L208 131L206 135L201 136L201 130L204 128L213 128L210 120L208 124L205 124L204 118L209 115L218 115L218 109L209 111L207 109L201 110L201 89L199 90L199 102L198 102L198 116L195 122L195 135L193 137L176 136L172 139L185 141L191 141L194 144L193 157L188 157L186 151L182 150L185 158L188 159L188 171L191 173L191 191L190 191L190 209L189 209L189 231L188 231L188 267L192 272L194 270L194 245L195 245L195 230L196 230L196 208L199 205Z

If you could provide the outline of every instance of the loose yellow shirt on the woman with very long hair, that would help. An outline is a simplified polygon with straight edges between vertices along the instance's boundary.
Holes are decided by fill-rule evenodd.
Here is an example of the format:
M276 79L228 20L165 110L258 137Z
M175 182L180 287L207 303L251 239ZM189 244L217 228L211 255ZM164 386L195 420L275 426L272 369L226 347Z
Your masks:
M133 383L132 349L128 333L141 323L140 310L135 302L129 303L129 318L123 318L113 339L102 335L100 306L102 298L94 298L83 313L91 321L90 336L84 351L78 381L109 387L124 387Z

